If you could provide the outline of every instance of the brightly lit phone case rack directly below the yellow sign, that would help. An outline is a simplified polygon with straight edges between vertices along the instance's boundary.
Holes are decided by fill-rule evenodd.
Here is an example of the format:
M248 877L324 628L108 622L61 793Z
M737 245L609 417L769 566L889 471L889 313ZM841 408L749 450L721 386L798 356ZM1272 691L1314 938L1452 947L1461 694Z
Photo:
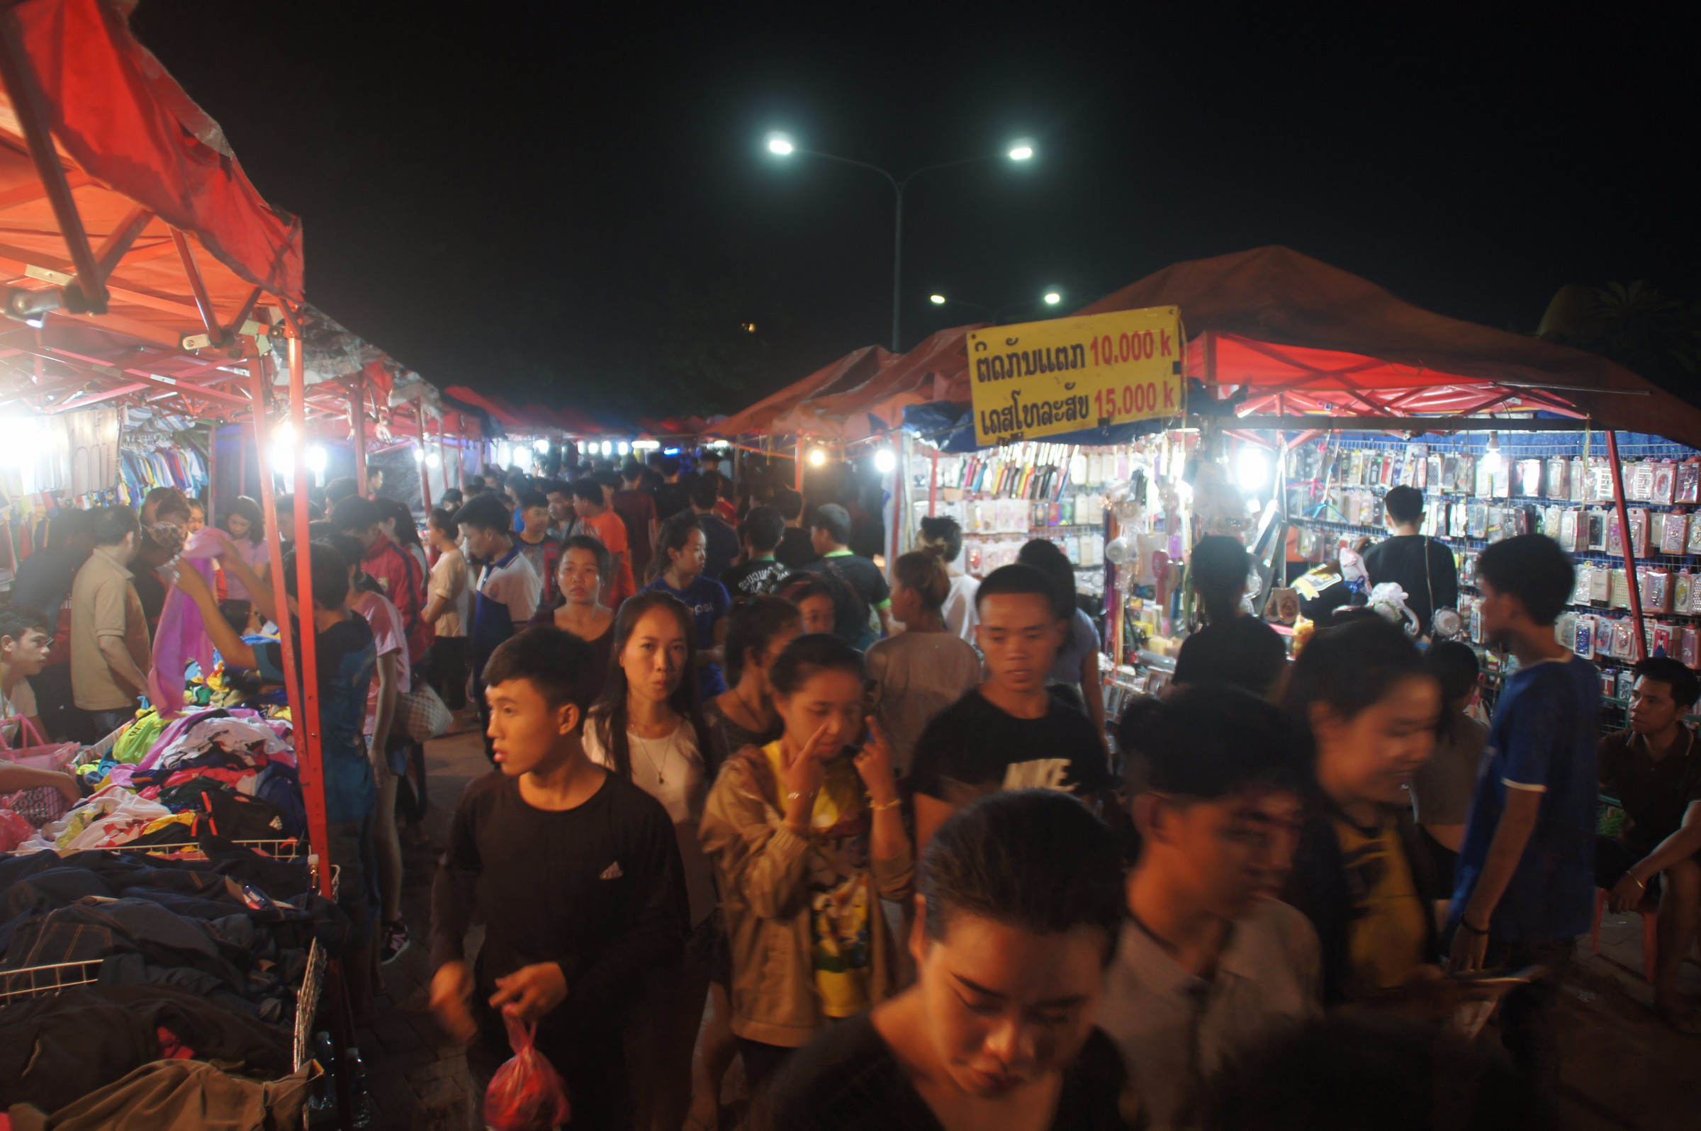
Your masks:
M1077 590L1104 594L1104 492L1128 481L1128 447L1007 444L941 454L929 476L929 514L963 527L964 571L985 577L1050 537L1075 563Z

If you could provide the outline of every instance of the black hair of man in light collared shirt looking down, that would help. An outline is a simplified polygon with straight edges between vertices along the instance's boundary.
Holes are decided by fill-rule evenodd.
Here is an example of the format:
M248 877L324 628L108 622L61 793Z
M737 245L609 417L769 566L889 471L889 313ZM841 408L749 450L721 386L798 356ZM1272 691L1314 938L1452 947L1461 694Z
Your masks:
M1247 789L1300 793L1305 740L1272 702L1230 684L1187 684L1138 699L1116 725L1128 791L1213 801Z

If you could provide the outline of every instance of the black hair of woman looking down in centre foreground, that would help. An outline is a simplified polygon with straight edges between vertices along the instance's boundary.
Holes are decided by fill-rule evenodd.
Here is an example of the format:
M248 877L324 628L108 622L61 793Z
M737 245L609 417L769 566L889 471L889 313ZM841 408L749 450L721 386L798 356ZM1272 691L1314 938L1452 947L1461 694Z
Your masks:
M1036 935L1092 927L1104 963L1128 901L1116 837L1055 789L995 793L958 810L927 842L915 889L930 939L944 939L959 913Z

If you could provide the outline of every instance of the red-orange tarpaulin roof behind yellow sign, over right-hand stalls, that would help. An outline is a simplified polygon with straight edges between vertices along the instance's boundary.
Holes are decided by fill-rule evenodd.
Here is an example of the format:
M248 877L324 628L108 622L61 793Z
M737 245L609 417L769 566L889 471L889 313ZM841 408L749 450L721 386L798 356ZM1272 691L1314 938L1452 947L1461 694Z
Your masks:
M1145 306L1180 308L1189 376L1243 393L1240 415L1545 410L1701 447L1701 408L1606 357L1436 315L1289 248L1175 264L1078 313ZM849 440L871 413L896 427L908 405L968 403L973 328L941 330L859 389L801 393L779 422Z

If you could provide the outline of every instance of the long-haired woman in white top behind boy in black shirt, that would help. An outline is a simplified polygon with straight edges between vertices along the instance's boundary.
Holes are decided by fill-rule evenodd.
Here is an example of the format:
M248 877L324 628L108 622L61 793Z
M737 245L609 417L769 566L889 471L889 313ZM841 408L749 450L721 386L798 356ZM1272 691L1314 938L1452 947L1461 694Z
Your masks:
M631 1058L633 1128L677 1131L691 1102L691 1053L703 1020L714 941L714 872L697 840L709 781L697 709L696 622L679 599L646 590L614 621L609 682L592 704L585 753L653 796L674 818L686 867L692 941L679 966L660 971L636 1019Z

